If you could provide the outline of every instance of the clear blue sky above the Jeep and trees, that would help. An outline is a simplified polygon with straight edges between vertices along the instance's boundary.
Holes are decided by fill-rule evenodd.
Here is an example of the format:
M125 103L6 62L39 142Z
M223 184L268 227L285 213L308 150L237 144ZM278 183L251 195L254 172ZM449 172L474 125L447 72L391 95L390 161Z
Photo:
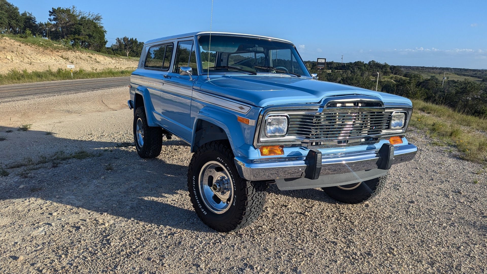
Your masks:
M100 13L108 45L209 30L211 0L10 0L46 21L52 7ZM301 57L487 69L487 1L214 0L213 31L291 40Z

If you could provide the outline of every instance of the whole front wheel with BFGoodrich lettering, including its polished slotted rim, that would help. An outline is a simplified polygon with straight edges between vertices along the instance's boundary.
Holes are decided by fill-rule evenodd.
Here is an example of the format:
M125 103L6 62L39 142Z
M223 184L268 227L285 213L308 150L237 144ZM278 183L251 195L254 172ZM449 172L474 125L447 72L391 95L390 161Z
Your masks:
M187 186L198 217L210 228L230 232L259 217L266 185L240 177L228 143L204 144L191 158Z

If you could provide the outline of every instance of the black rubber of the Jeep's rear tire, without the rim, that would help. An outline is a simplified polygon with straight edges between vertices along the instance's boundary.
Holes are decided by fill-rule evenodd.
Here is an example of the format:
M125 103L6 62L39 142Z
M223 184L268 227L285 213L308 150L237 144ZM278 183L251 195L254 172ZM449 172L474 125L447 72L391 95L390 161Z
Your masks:
M138 146L137 137L135 136L136 117L141 117L144 127L144 145L142 148ZM147 124L146 110L143 106L137 107L134 112L133 122L133 137L135 142L135 149L141 158L155 158L161 154L162 138L164 134L160 127L150 127Z

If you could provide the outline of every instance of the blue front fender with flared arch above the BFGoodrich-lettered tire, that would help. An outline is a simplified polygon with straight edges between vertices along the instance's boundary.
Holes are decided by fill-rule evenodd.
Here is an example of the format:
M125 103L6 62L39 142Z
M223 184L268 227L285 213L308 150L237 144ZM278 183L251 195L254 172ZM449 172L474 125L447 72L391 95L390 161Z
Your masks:
M191 152L195 152L196 126L198 124L198 120L206 120L221 127L225 131L235 156L248 157L250 145L248 145L245 140L249 137L253 137L253 134L255 133L255 126L249 126L247 124L238 122L237 116L237 114L226 111L222 108L212 106L202 108L194 120Z

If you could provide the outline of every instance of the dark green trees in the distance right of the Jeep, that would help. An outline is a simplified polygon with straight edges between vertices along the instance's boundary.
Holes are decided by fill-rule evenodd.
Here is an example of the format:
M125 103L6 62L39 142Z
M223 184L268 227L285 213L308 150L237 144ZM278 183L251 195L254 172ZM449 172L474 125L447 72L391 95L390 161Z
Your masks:
M450 108L477 117L487 117L487 83L468 79L445 80L431 76L423 78L419 73L404 72L400 66L379 63L374 60L340 63L327 62L331 72L320 71L316 61L307 61L312 73L319 73L319 79L346 85L391 93L410 99L446 105Z

